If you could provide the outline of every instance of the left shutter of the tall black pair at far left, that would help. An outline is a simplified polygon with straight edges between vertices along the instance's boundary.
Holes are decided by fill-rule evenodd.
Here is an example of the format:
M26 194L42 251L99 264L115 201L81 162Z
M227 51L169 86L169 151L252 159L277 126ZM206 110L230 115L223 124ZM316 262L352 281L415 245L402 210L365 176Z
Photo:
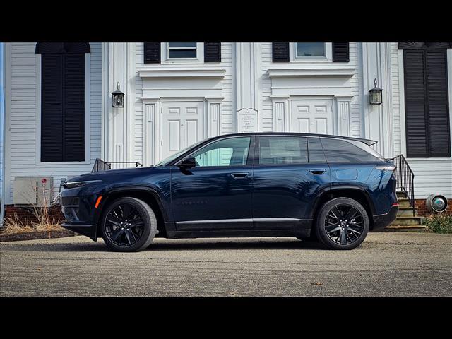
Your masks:
M41 161L63 161L63 54L41 57Z

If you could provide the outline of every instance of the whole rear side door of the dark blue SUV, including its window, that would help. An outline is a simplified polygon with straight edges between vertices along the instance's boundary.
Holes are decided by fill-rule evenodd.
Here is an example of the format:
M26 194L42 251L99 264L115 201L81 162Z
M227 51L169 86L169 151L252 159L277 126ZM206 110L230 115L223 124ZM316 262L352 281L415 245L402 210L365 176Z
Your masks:
M312 150L314 160L315 149ZM331 184L324 157L316 156L316 163L309 163L307 138L284 136L260 137L258 155L253 180L256 230L310 227L314 202L319 192Z

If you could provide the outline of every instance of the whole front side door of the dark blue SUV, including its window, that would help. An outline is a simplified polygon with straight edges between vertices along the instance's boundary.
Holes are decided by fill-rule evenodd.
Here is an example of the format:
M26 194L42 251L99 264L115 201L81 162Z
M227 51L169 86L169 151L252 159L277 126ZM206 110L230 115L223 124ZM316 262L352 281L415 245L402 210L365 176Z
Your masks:
M177 230L253 227L250 136L222 138L191 153L196 166L172 169L171 211Z

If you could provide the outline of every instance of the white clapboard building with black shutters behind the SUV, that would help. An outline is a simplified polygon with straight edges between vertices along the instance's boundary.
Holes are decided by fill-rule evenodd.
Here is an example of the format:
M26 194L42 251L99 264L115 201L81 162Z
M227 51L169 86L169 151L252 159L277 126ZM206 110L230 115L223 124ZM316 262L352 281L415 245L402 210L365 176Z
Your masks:
M52 177L57 193L96 158L151 165L236 132L242 108L258 131L379 141L408 160L419 206L452 198L451 42L20 42L4 60L7 205L16 177Z

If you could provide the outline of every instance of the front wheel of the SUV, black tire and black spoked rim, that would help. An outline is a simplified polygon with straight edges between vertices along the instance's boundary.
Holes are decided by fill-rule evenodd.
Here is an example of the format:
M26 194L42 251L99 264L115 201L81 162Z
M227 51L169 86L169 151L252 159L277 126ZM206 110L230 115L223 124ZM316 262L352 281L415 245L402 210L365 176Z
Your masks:
M100 226L102 238L110 249L141 251L150 245L157 233L157 218L147 203L126 197L109 203Z

